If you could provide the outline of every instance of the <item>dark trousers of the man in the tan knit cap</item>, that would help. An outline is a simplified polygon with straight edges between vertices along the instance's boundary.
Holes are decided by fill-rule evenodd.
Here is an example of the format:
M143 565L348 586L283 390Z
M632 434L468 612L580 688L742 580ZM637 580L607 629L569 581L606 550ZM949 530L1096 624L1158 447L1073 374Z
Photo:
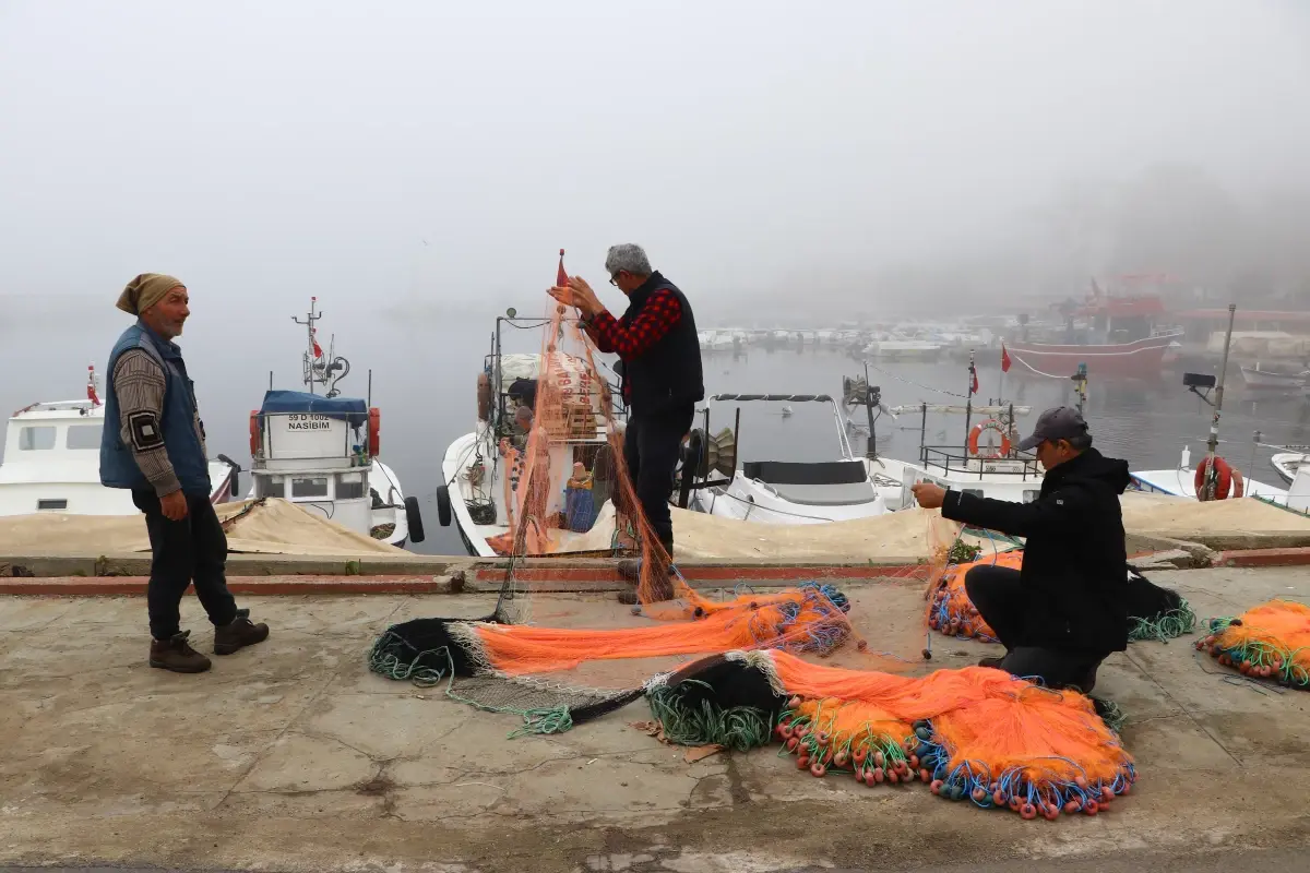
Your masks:
M151 636L168 640L181 630L182 596L193 581L210 620L215 626L231 624L237 616L237 602L224 575L228 537L210 499L187 495L182 521L164 516L153 491L134 491L132 503L145 513L151 534L151 584L145 592Z

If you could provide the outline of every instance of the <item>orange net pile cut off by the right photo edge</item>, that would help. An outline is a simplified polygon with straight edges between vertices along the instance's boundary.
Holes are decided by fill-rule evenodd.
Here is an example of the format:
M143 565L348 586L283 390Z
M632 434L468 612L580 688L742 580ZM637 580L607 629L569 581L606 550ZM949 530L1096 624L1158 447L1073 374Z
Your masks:
M1237 618L1212 619L1196 648L1243 675L1310 687L1310 607L1269 601Z

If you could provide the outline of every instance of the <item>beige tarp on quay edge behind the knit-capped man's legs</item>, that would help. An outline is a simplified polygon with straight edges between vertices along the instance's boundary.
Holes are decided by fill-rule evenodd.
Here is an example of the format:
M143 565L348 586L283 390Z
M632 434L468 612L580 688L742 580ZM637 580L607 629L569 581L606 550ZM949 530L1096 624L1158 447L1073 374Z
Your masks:
M286 500L215 507L228 550L266 555L389 555L409 552L347 530ZM250 512L241 514L250 507ZM240 518L237 518L240 516ZM0 555L111 555L149 551L144 516L35 513L0 517Z

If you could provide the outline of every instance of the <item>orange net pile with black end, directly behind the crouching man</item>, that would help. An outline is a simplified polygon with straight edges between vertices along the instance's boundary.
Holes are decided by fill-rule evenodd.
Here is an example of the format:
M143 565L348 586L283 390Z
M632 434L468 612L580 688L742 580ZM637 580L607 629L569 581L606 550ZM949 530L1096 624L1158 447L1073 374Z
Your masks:
M979 615L964 588L975 567L1023 567L1023 551L1000 552L982 560L955 564L942 573L929 596L927 626L946 636L997 643L996 632ZM1196 630L1196 613L1178 592L1155 585L1128 567L1128 639L1169 641Z

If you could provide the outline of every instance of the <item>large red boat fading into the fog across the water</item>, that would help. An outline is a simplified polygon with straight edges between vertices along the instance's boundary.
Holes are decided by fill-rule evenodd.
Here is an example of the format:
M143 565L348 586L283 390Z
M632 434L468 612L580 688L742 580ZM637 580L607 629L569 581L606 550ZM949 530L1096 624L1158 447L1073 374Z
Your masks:
M1165 353L1183 336L1180 329L1161 326L1165 305L1155 294L1110 297L1093 283L1085 305L1066 310L1064 335L1023 336L1006 343L1019 370L1044 376L1072 376L1079 364L1093 378L1104 376L1150 377L1161 372Z

